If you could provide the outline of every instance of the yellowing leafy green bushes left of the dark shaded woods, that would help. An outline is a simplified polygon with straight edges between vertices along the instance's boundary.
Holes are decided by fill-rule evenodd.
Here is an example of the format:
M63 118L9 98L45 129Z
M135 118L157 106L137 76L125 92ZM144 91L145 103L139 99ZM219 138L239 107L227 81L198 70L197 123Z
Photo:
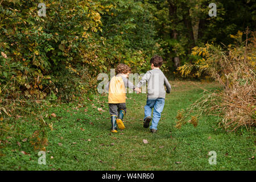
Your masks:
M48 0L41 17L39 3L0 5L1 98L69 101L95 90L98 73L118 63L144 72L161 54L150 3Z

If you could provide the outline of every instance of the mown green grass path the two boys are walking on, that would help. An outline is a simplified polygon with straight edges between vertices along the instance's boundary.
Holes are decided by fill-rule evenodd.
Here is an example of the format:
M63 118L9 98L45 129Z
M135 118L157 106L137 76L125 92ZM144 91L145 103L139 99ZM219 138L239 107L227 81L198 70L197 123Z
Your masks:
M106 96L96 96L94 102L79 101L81 106L74 102L47 108L45 114L55 113L57 117L44 119L53 123L53 131L47 126L46 165L38 164L38 151L32 150L29 142L29 136L39 128L36 117L24 116L12 122L3 120L9 122L10 127L13 125L20 134L14 135L10 131L2 134L1 140L5 142L1 142L0 169L255 170L255 159L250 159L255 155L255 136L250 132L225 133L217 127L214 117L208 115L199 121L197 127L190 124L181 129L174 127L177 111L201 97L203 89L197 85L208 89L217 89L216 86L188 81L171 84L172 92L167 94L156 134L143 128L145 94L127 95L126 129L119 130L117 134L110 134L109 131ZM97 107L105 112L100 114ZM23 142L24 138L27 141ZM148 143L144 144L143 139L147 139ZM209 151L216 151L216 165L208 163Z

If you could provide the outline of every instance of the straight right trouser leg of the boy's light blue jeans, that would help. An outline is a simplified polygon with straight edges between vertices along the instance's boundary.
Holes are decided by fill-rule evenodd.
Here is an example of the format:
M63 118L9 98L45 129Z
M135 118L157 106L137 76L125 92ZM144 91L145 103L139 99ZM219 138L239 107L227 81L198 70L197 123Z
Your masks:
M152 119L152 124L150 126L150 129L155 129L158 130L158 122L161 118L161 113L163 111L164 107L164 98L158 98L155 101L154 105L154 111L153 111L153 119Z

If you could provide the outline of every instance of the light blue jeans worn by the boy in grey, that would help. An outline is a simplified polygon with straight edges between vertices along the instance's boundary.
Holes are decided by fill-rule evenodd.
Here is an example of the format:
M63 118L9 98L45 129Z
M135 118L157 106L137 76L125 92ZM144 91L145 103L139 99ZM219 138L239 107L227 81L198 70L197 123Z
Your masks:
M144 119L148 116L151 117L152 108L153 111L153 119L150 126L150 129L157 130L158 122L161 118L161 113L164 107L164 98L157 98L157 99L148 99L146 106L144 106Z

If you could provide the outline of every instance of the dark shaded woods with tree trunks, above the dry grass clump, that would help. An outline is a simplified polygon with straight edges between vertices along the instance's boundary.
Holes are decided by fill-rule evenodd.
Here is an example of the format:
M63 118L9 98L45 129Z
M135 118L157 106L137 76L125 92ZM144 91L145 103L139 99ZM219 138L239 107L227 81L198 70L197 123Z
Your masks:
M193 47L203 47L207 42L228 45L233 42L229 34L250 30L255 19L253 1L209 0L160 0L148 1L156 7L155 27L164 50L164 60L169 71L176 71L174 57L179 57L180 66L192 63ZM216 3L217 16L210 17L209 4ZM246 18L245 18L246 17ZM243 38L244 39L244 38Z

